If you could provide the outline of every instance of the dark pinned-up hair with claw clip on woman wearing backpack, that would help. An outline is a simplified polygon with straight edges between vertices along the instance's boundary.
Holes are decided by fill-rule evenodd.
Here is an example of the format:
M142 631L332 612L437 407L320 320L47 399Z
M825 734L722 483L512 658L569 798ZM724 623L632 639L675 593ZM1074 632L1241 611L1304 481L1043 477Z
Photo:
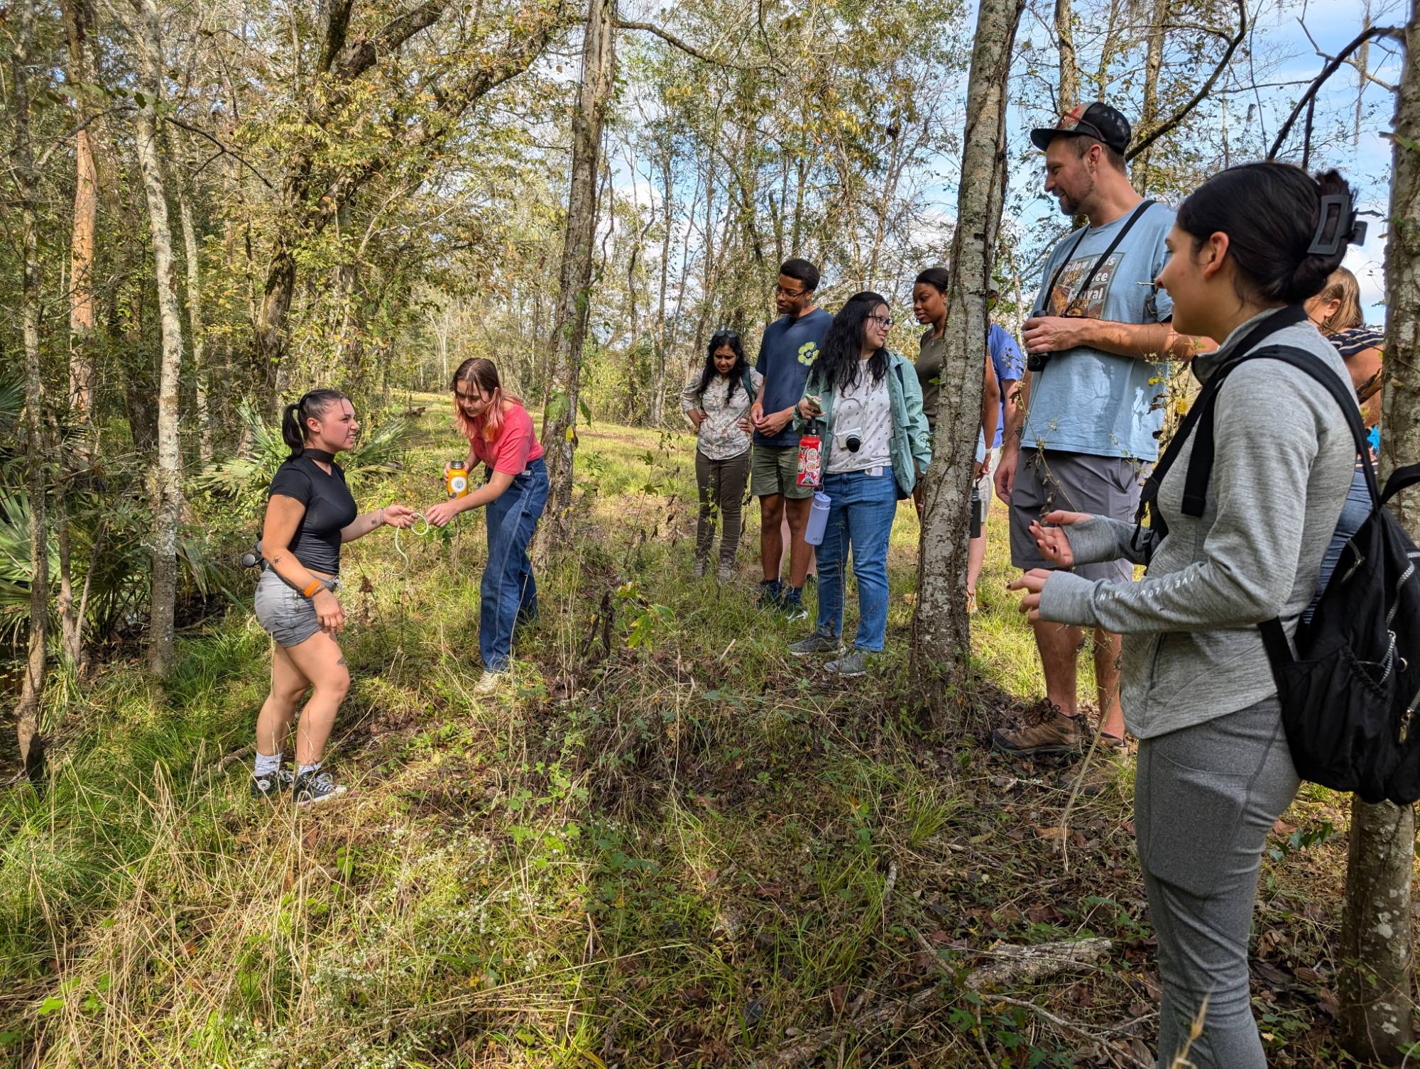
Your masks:
M1340 196L1342 212L1322 226L1323 237L1340 234L1332 253L1312 253L1321 199ZM1301 304L1326 285L1346 256L1353 194L1335 170L1315 179L1292 163L1241 163L1218 172L1179 206L1179 229L1194 247L1211 234L1228 236L1228 256L1244 275L1250 294L1262 301Z

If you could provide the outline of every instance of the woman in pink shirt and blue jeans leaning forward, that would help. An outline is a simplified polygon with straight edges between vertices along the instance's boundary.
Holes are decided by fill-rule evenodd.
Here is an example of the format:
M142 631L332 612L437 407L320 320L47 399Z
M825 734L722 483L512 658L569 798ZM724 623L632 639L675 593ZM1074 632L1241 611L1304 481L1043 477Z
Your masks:
M523 399L506 393L493 361L471 358L453 373L453 412L469 439L469 471L486 464L488 477L467 497L440 501L426 515L443 527L459 512L487 505L488 564L483 569L479 652L491 693L508 670L513 627L537 618L537 582L528 545L547 504L547 464Z

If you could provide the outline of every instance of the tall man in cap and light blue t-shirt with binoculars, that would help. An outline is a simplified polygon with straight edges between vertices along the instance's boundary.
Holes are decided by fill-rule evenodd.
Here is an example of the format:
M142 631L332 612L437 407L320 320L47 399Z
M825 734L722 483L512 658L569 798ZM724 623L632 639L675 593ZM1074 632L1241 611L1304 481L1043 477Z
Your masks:
M1027 572L1052 566L1030 532L1048 512L1133 522L1140 483L1159 459L1167 361L1217 348L1170 325L1173 304L1154 278L1167 260L1173 210L1146 206L1129 183L1129 121L1102 102L1031 131L1031 142L1045 152L1045 192L1066 216L1085 216L1089 226L1066 236L1045 264L1022 331L1027 402L1005 430L995 471L997 494L1011 507L1011 564ZM1133 579L1127 561L1075 571L1091 579ZM994 733L998 748L1035 757L1078 754L1088 742L1075 696L1082 643L1079 627L1035 625L1045 700L1021 728ZM1095 680L1100 742L1123 747L1119 636L1095 632Z

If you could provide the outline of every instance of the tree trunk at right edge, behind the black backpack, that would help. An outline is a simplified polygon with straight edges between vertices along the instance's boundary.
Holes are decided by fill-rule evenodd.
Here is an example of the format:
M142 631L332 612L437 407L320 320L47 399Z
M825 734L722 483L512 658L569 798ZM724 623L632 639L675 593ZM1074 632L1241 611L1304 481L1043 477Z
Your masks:
M1411 0L1406 54L1393 131L1420 128L1420 0ZM1382 467L1393 471L1420 461L1420 382L1410 369L1420 359L1420 152L1392 139L1390 230L1386 241L1386 361ZM1392 498L1390 507L1413 538L1420 538L1420 490ZM1396 1065L1414 1041L1411 1001L1413 933L1410 883L1414 876L1414 806L1366 805L1352 799L1350 857L1342 913L1339 977L1346 1046L1365 1058Z

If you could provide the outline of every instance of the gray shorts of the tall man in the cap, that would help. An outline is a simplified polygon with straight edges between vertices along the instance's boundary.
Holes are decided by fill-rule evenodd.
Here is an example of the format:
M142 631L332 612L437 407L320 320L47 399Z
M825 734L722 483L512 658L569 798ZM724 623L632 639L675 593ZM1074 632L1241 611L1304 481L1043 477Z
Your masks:
M1011 564L1021 571L1055 566L1041 557L1031 538L1031 524L1047 512L1089 512L1132 524L1150 470L1153 464L1142 460L1022 446L1011 488ZM1082 564L1071 571L1086 579L1133 582L1135 578L1135 566L1125 559Z

